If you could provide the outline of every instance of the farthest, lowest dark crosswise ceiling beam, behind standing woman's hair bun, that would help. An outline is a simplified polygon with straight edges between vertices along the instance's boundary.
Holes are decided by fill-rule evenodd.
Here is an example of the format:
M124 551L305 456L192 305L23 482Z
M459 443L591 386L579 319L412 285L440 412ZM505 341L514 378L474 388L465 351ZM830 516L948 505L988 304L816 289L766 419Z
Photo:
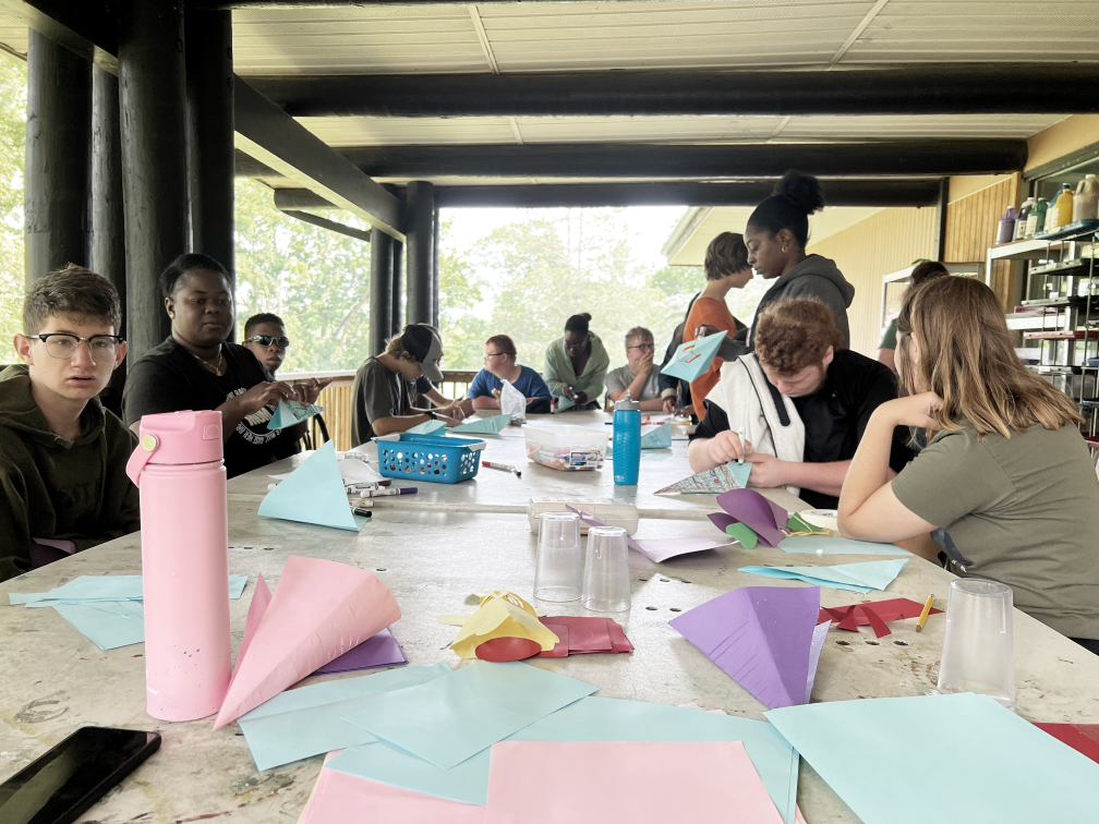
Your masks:
M939 198L940 181L822 180L830 207L930 207ZM435 205L512 207L552 209L577 207L697 205L754 207L769 196L774 180L733 183L623 182L623 183L522 183L500 186L439 186ZM331 203L307 189L276 189L275 204L284 210L331 209Z

